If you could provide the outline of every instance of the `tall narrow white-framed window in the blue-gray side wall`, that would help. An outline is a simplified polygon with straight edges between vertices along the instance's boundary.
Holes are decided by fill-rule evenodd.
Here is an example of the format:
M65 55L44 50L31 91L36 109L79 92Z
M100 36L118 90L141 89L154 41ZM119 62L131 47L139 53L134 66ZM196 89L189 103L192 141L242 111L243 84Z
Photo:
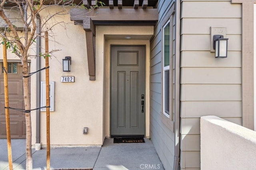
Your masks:
M163 29L163 109L166 116L170 116L170 21Z

